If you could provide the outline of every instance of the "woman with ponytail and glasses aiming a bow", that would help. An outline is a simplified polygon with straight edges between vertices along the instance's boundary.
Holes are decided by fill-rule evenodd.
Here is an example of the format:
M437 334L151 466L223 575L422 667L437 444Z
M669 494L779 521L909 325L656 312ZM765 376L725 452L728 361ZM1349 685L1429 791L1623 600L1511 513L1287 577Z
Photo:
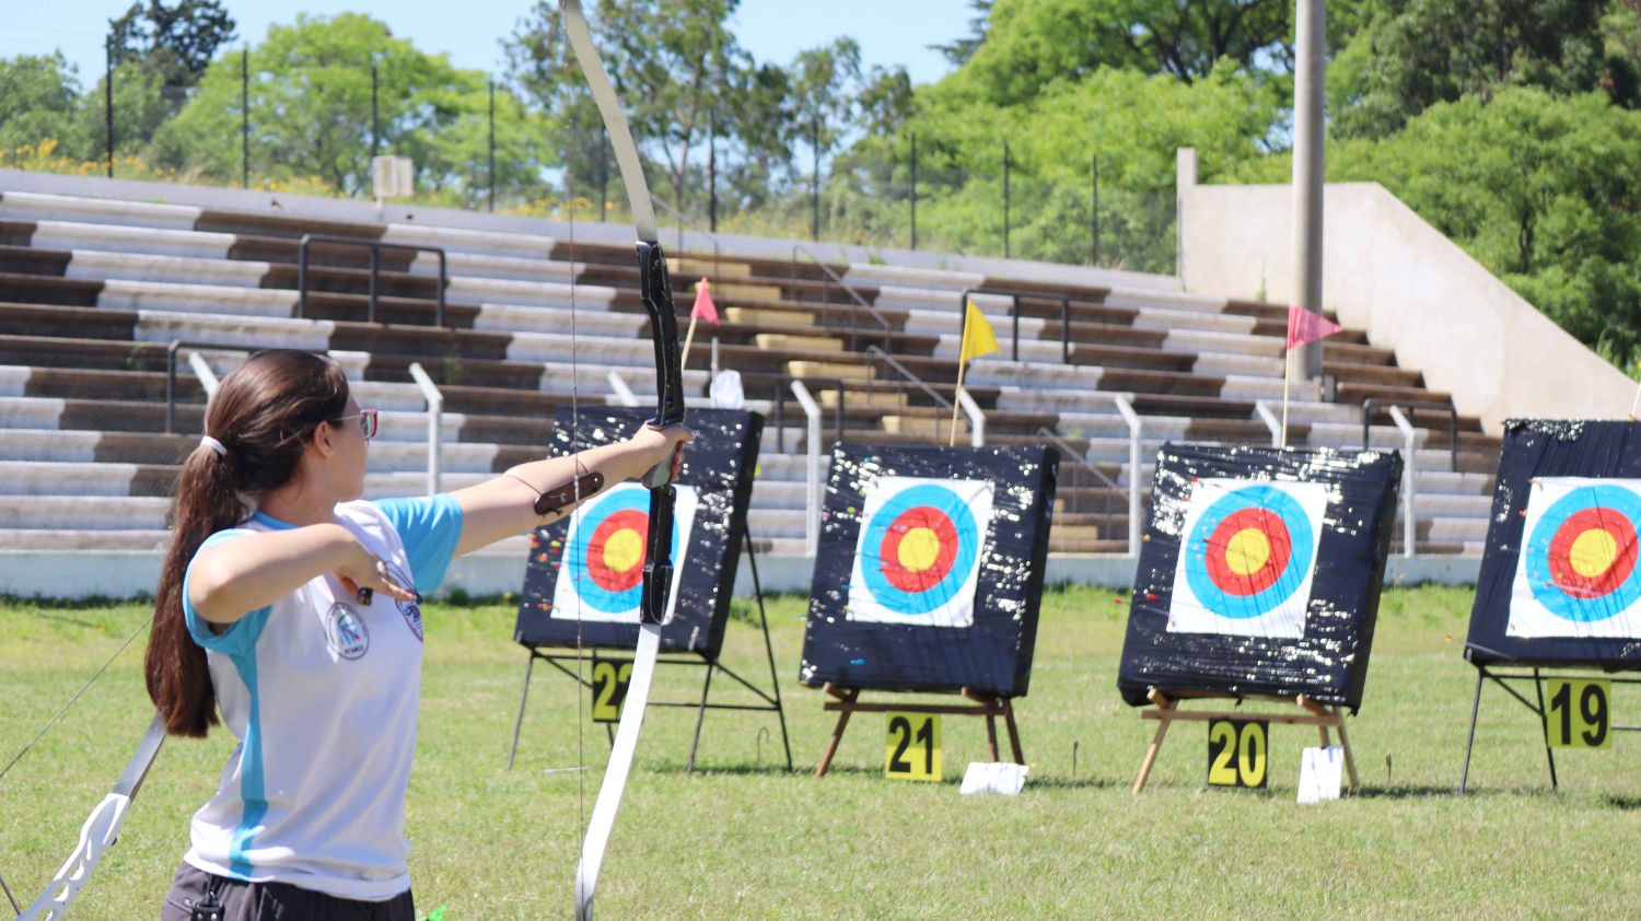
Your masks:
M187 456L154 601L148 691L174 735L240 740L162 921L412 921L405 788L422 683L420 594L453 557L556 520L543 494L670 463L683 427L519 465L478 486L359 501L376 410L341 368L261 351L223 378ZM589 476L599 474L599 476Z

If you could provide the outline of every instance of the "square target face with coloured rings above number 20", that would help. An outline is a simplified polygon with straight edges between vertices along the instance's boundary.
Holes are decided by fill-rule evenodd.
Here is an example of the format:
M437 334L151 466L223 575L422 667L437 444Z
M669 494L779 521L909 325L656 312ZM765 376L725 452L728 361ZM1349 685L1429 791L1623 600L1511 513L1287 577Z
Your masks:
M1305 635L1328 486L1196 479L1168 632Z

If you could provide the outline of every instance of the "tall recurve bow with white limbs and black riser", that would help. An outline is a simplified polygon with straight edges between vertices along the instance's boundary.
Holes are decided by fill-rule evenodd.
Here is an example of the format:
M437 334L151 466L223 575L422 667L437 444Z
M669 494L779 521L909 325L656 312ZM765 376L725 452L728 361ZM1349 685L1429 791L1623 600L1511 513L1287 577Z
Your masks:
M604 117L604 130L615 149L627 200L632 205L637 231L638 284L643 307L650 315L650 332L655 340L655 392L656 410L650 422L656 427L678 425L684 420L683 364L678 351L678 314L673 309L673 292L666 277L666 254L661 251L655 227L655 205L643 177L638 146L627 128L615 87L604 72L604 61L592 46L592 33L581 13L579 0L560 0L565 16L565 34L587 77L587 87ZM638 747L643 727L643 711L650 703L650 680L655 660L661 652L661 622L666 619L668 599L673 589L673 501L670 483L671 463L656 465L645 479L650 489L650 532L643 563L643 593L638 604L638 645L633 650L632 683L622 704L620 724L615 729L615 745L610 749L609 767L592 804L587 836L581 842L581 864L576 868L576 918L592 919L592 895L599 882L599 867L615 826L615 813L627 788L632 755Z

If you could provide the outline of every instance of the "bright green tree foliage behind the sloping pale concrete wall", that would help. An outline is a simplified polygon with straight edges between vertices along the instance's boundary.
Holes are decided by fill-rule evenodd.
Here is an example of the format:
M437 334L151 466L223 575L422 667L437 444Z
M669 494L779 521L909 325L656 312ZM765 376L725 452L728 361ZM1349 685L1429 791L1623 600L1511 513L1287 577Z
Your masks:
M1239 176L1287 171L1270 158ZM1331 144L1328 179L1382 182L1585 345L1641 356L1641 113L1607 94L1438 103L1390 138Z

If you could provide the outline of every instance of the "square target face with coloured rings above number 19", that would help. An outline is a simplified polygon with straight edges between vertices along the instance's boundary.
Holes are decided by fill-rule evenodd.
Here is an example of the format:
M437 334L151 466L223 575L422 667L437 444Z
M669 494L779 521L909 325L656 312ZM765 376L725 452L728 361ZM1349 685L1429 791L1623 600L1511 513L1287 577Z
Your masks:
M1534 478L1505 634L1641 639L1638 520L1641 479Z

